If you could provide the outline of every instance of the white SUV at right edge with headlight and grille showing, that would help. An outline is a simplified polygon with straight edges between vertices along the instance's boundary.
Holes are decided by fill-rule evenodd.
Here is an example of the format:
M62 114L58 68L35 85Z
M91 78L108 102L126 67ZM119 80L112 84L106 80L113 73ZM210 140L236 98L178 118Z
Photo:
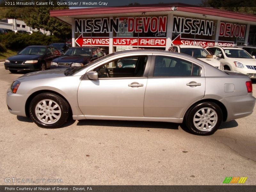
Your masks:
M207 51L217 56L224 70L243 73L251 78L256 78L256 60L255 56L238 47L207 47Z

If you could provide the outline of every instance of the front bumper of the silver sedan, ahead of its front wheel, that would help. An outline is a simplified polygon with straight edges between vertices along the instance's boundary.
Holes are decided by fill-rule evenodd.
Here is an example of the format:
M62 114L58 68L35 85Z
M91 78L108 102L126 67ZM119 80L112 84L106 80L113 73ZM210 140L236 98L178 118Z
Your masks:
M26 116L25 105L31 94L12 93L10 89L7 91L6 104L9 112L18 116Z

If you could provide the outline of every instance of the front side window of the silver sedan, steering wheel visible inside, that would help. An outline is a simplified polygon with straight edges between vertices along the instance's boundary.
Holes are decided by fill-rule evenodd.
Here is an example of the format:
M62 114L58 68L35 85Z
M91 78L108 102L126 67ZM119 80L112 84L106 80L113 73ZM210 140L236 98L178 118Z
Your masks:
M105 63L93 71L99 78L142 77L148 56L124 57Z

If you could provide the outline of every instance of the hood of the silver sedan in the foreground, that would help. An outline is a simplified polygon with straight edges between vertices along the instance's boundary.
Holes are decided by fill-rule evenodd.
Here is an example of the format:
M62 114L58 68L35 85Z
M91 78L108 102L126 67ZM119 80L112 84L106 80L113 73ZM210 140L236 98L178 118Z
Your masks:
M35 80L35 79L45 79L45 78L52 78L52 77L62 77L64 75L64 71L66 69L52 69L52 70L45 70L45 71L35 71L28 73L26 75L20 76L18 81L29 81L29 80Z

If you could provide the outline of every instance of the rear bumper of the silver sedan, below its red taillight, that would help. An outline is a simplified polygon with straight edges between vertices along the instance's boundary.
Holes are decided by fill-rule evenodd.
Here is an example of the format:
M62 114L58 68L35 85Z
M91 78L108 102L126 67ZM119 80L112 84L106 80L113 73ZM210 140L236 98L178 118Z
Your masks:
M226 121L249 116L253 112L256 99L252 96L252 93L248 93L245 96L227 97L222 102L228 111L228 117Z

